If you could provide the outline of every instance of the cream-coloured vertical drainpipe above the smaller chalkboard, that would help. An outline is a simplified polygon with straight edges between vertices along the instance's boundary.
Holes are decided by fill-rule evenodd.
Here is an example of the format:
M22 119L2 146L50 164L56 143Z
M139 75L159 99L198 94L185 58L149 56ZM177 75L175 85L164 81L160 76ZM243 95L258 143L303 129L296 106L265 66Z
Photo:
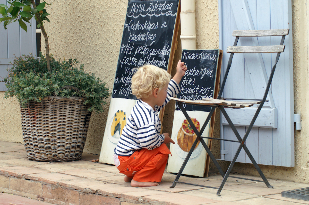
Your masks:
M180 1L181 49L196 49L195 33L195 2L194 0Z

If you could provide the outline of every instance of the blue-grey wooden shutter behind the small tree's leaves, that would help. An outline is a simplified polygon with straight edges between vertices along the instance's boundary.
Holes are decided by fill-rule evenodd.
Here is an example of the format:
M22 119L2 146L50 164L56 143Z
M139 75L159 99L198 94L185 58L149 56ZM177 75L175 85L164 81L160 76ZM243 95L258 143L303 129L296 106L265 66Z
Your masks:
M0 0L2 4L8 4L5 0ZM9 6L8 4L7 6ZM2 17L2 15L0 14ZM36 22L32 18L29 23L26 23L28 29L24 31L19 27L18 22L12 22L7 26L5 30L3 22L0 25L0 80L8 75L7 68L11 67L10 62L14 61L14 55L16 57L22 54L29 55L33 53L36 55ZM0 82L0 91L5 91L6 87L3 82Z

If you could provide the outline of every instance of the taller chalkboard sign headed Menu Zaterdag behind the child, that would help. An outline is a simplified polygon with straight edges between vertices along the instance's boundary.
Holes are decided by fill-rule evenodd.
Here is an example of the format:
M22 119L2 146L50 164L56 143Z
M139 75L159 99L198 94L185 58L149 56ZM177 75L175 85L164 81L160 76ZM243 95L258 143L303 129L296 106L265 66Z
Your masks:
M114 148L136 102L131 90L136 68L170 67L178 4L179 0L129 0L99 162L114 163Z

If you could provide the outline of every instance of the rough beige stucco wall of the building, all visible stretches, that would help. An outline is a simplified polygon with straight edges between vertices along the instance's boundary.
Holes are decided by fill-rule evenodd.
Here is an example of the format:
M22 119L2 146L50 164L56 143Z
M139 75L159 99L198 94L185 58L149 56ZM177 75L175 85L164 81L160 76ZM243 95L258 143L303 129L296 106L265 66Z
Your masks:
M48 13L51 23L46 23L49 35L50 52L58 58L76 57L85 65L85 69L95 73L104 80L110 91L116 72L119 47L127 1L120 0L92 0L92 1L60 1L49 0ZM197 49L214 49L219 47L218 37L218 1L196 0L196 34ZM302 114L302 130L295 131L295 167L260 166L267 178L288 179L299 182L309 182L309 146L308 146L308 17L309 5L306 0L292 0L293 16L293 55L294 55L294 111ZM180 35L180 34L179 34ZM174 67L181 55L181 41L174 57ZM44 48L44 44L42 44ZM172 75L175 69L172 70ZM0 99L3 92L0 92ZM99 154L106 112L93 114L88 131L85 151ZM14 98L0 100L1 127L0 141L22 141L19 105ZM171 133L175 103L171 102L165 109L163 132ZM219 137L219 115L216 115L214 137ZM214 141L213 149L219 158L219 142ZM226 169L228 162L220 162ZM213 163L210 170L216 171ZM236 163L232 172L258 175L251 164Z

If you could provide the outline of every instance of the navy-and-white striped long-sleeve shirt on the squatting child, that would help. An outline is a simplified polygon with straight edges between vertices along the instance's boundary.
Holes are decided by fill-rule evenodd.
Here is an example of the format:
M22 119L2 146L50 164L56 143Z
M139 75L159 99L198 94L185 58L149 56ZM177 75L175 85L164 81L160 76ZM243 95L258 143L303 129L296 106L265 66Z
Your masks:
M171 80L168 84L167 98L162 106L156 105L153 109L147 103L138 100L122 130L115 154L130 156L136 150L153 150L160 146L164 141L164 135L160 135L161 120L158 112L170 101L168 96L175 97L179 92L179 85Z

